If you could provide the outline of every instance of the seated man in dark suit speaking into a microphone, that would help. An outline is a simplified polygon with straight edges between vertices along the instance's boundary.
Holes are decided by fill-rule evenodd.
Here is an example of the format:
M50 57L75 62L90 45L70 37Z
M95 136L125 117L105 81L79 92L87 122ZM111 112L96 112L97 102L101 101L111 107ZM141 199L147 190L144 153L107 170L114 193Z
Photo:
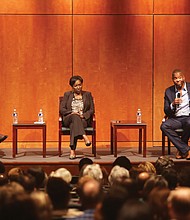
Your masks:
M177 148L176 159L190 160L190 83L185 82L183 72L176 69L172 73L174 85L165 91L164 112L168 119L161 124L161 130ZM182 137L176 129L183 129Z

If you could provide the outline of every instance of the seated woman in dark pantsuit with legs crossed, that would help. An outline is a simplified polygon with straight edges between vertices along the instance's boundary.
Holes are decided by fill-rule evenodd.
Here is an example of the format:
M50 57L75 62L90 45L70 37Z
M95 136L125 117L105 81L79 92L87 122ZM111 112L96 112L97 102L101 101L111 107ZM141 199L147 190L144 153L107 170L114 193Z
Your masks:
M70 156L76 158L76 146L78 139L84 139L86 146L91 142L86 136L84 128L92 125L94 114L94 102L90 92L83 91L83 79L81 76L73 76L69 81L72 91L64 93L60 103L60 114L65 127L70 128Z

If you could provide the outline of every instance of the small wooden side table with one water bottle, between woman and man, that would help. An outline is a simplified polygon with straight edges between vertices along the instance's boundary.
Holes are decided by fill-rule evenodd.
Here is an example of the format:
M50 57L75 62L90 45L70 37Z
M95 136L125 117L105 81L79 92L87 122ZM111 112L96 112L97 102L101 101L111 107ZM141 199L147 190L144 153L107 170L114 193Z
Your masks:
M130 120L114 120L110 122L110 138L111 138L111 154L117 157L117 130L119 129L138 129L139 130L139 154L142 153L143 142L143 157L146 157L146 127L147 124L136 123ZM143 132L143 135L142 135Z

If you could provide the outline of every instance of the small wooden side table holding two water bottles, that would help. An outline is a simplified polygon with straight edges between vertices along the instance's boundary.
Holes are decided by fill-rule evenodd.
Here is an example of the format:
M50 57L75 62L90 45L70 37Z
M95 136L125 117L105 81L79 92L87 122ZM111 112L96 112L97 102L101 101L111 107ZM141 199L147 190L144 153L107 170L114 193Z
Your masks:
M17 149L17 133L19 129L41 129L42 130L42 142L43 142L43 157L46 157L46 124L35 124L34 122L23 122L18 124L13 124L13 158L18 153Z

